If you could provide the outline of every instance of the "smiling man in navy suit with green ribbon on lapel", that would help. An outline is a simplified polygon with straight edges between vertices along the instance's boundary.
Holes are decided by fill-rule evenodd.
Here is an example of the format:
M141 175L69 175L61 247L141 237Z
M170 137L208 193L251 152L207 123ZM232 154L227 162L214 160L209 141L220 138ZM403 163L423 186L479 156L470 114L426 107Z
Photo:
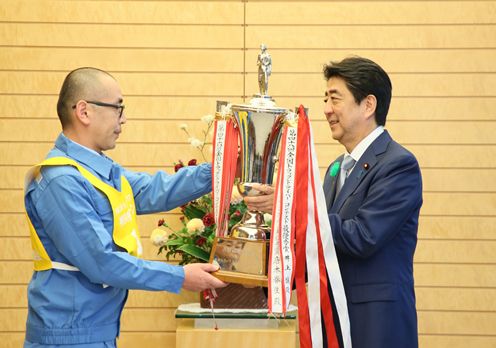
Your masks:
M346 152L324 179L354 348L417 347L413 254L422 205L414 155L384 130L391 81L371 60L324 67L324 113Z

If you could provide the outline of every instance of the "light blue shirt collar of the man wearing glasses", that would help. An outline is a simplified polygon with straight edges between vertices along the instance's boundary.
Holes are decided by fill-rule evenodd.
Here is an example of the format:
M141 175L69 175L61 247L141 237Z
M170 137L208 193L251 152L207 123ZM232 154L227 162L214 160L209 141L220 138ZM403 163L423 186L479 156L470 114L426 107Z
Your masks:
M64 133L60 133L55 141L55 147L64 152L68 157L91 168L98 175L109 179L110 170L112 169L112 160L95 150L87 148L67 138Z

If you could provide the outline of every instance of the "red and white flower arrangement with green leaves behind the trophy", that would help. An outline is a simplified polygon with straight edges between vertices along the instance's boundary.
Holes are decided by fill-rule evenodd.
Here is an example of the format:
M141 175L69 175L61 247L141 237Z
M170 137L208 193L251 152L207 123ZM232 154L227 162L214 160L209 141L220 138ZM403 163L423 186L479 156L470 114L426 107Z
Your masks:
M200 151L203 160L206 161L204 154L206 140L213 126L214 118L211 115L206 115L201 120L207 124L207 129L202 131L203 139L191 136L186 123L181 123L179 128L186 133L188 142ZM197 165L196 159L191 159L187 164L179 160L178 163L174 164L174 171L177 172L185 166L195 165ZM229 207L229 229L241 220L246 209L241 195L234 188ZM193 262L208 262L216 229L212 195L204 195L183 205L181 213L182 227L180 229L175 230L164 219L160 219L158 227L152 231L150 239L155 246L159 247L158 254L165 252L167 260L171 257L179 257L180 265Z

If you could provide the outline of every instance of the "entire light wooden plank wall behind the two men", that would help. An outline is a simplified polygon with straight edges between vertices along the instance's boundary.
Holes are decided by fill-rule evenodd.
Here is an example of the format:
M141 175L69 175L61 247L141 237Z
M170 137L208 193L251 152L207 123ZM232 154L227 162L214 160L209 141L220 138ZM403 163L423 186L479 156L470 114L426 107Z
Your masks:
M96 66L118 79L128 122L109 156L133 170L172 173L173 162L199 157L178 123L198 134L217 100L257 92L262 42L273 58L270 94L280 106L310 108L322 175L343 152L322 111L323 64L356 54L388 71L387 128L423 173L414 265L420 347L495 346L495 24L496 1L4 1L2 346L23 341L32 274L23 176L59 133L55 104L67 72ZM157 220L178 228L178 217L138 218L147 258L163 260L149 241ZM173 310L193 301L194 293L132 291L119 346L173 347Z

